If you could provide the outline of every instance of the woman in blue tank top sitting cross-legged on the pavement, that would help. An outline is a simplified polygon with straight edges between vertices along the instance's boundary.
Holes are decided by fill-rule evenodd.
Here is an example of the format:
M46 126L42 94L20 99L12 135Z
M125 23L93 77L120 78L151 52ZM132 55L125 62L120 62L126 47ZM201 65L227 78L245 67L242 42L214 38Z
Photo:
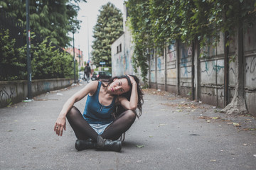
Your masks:
M81 114L73 105L85 96L85 111ZM76 149L97 148L119 152L122 142L118 139L138 117L137 108L139 116L142 114L142 104L143 92L136 76L92 81L65 102L55 122L54 131L57 135L63 135L67 117L78 138L75 141Z

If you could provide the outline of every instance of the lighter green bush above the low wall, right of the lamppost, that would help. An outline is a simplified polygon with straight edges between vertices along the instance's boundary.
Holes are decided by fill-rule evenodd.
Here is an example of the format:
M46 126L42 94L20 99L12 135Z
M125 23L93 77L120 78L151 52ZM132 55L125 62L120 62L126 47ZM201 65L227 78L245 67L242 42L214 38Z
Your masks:
M31 36L33 38L33 35ZM26 46L20 49L26 56ZM48 38L36 45L31 44L32 79L71 78L74 75L73 56L48 42ZM76 65L78 71L78 64ZM76 72L76 74L78 74Z

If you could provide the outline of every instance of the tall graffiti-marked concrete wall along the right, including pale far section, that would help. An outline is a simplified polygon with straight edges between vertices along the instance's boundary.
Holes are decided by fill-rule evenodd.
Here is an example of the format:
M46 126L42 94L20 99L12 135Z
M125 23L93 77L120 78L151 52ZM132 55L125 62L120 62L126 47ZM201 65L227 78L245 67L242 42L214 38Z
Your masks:
M256 115L256 26L247 28L244 33L245 57L245 100L247 109ZM124 51L117 53L117 45L124 45ZM230 38L229 57L235 55L237 40ZM194 60L191 45L172 42L162 55L152 50L149 60L149 87L196 98L203 103L225 107L224 100L224 35L220 33L217 46L204 47L198 57L195 50ZM196 49L196 47L195 47ZM124 35L112 45L112 74L134 74L132 69L132 38L126 28ZM159 52L158 52L159 53ZM193 61L193 62L192 62ZM194 74L192 74L194 68ZM228 70L228 103L233 98L235 88L235 62L230 62ZM192 84L193 83L193 84ZM192 89L193 87L193 89ZM191 96L194 94L194 96Z

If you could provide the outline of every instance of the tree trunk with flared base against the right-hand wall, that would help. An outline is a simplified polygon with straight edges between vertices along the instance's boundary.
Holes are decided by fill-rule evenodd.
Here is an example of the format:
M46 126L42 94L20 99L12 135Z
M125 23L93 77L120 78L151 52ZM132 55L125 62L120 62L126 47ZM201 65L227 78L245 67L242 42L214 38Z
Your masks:
M247 113L246 103L245 103L245 86L244 86L244 70L245 70L245 62L243 57L243 33L242 28L239 26L237 30L237 52L235 59L235 94L231 103L228 104L225 108L223 108L223 112L227 114L245 114Z

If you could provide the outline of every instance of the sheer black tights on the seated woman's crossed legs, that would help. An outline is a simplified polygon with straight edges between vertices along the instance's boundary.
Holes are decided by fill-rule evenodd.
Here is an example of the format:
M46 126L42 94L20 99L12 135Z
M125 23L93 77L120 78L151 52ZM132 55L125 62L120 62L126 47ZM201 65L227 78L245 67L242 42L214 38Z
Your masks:
M90 124L87 123L87 121L82 117L82 114L78 108L73 106L66 117L68 118L68 122L73 128L75 136L78 138L78 140L91 138L92 140L97 141L97 132L95 132ZM117 140L122 135L122 133L129 130L129 128L132 126L132 123L134 123L135 118L136 114L134 111L124 111L105 129L101 135L102 138Z

